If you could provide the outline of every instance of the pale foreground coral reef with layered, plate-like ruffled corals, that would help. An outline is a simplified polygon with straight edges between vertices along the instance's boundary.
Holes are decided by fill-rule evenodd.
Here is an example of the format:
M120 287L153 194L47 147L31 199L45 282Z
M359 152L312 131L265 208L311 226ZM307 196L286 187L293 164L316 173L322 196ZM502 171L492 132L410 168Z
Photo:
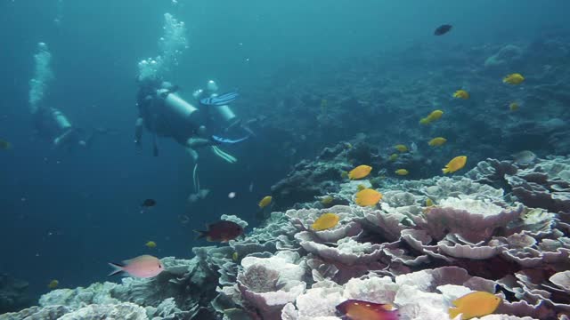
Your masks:
M194 248L191 260L163 258L165 271L154 278L54 290L40 307L0 319L338 319L339 303L365 300L390 304L407 319L441 320L453 300L474 291L502 300L481 319L570 314L570 158L489 159L465 176L373 187L381 173L343 181L348 164L323 160L346 158L346 148L325 154L297 165L303 173L274 189L292 209L272 212L245 238ZM305 202L283 196L294 186L291 176L305 181ZM303 187L312 185L307 180L330 186L326 196L343 204L324 206L321 187ZM384 197L356 205L359 188L378 188ZM323 213L338 221L315 230ZM223 219L247 227L238 217Z

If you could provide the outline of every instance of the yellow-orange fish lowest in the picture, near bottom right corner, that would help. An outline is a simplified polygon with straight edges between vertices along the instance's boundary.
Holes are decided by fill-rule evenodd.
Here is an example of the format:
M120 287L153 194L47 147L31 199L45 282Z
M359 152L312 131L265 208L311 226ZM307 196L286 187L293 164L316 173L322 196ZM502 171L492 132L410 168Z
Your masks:
M461 319L491 315L501 304L501 298L489 292L471 292L453 300L457 308L449 308L449 316L454 318L462 314Z

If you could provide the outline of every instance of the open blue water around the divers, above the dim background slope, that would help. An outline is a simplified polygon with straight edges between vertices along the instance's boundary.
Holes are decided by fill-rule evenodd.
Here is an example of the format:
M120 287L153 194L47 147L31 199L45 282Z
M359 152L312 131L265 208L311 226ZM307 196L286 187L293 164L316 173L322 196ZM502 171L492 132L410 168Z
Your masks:
M183 149L160 140L161 155L153 157L148 135L142 154L133 145L136 63L156 55L165 12L188 28L190 48L174 72L183 92L216 78L225 90L240 88L251 103L236 104L240 116L271 114L294 123L296 115L275 109L270 84L280 75L326 72L338 61L389 57L414 45L452 51L525 40L566 28L570 11L564 0L65 0L57 25L56 3L0 3L0 138L13 145L0 150L0 272L27 280L34 294L45 292L53 278L64 287L102 281L106 262L149 252L143 246L148 240L159 244L158 256L191 257L192 246L206 244L191 230L222 214L255 225L256 203L273 183L324 147L307 141L294 156L275 156L279 133L262 128L257 139L228 149L237 164L202 156L200 180L212 193L187 204L191 164ZM443 23L455 26L452 33L432 36ZM28 80L40 41L50 46L55 73L46 99L74 123L114 132L91 148L66 153L32 137ZM297 64L315 69L291 68ZM263 96L248 97L259 88ZM229 199L232 191L237 196ZM149 197L158 205L141 212L139 204ZM181 224L180 215L191 223Z

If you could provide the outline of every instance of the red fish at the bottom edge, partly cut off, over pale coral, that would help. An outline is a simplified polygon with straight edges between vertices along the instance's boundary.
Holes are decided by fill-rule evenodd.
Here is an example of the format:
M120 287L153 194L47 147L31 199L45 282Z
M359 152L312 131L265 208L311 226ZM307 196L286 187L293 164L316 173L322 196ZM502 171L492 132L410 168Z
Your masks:
M397 311L392 306L362 300L346 300L337 306L343 319L349 320L398 320Z

